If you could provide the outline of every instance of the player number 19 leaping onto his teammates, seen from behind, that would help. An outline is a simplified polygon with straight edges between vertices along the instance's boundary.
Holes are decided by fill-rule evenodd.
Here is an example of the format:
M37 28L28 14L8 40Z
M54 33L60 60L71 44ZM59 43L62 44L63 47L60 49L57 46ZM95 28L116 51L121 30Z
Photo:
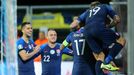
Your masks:
M102 50L109 49L109 54L104 61L105 64L109 64L123 48L123 45L116 41L115 32L106 27L105 20L107 15L113 19L114 25L120 22L119 16L110 5L101 4L96 0L92 2L87 11L81 14L79 18L71 24L71 28L74 28L81 22L85 23L84 35L90 48L94 52L94 56L98 60L98 65L104 61L105 55ZM101 44L99 44L98 41L99 43L101 42Z

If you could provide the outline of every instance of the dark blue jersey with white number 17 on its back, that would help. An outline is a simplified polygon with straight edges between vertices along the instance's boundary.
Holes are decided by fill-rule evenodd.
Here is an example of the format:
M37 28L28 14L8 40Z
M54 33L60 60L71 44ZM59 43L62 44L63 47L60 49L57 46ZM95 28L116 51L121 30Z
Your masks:
M65 40L68 44L72 43L74 63L93 61L92 51L86 43L83 31L84 28L76 32L71 32Z

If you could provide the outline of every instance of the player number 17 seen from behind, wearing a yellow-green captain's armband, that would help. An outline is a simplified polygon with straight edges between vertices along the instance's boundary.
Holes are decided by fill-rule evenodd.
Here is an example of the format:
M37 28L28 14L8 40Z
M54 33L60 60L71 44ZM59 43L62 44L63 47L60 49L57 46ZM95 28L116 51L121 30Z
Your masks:
M74 52L74 64L72 75L95 75L95 58L92 50L86 45L83 35L84 27L71 32L61 45L61 50L72 44Z

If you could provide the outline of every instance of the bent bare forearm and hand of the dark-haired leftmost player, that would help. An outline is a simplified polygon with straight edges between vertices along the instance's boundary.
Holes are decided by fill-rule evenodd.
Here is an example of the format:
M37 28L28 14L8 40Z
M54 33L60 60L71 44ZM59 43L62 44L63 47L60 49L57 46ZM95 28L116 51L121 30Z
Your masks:
M19 55L22 58L23 61L26 61L30 58L32 58L36 53L38 53L40 51L40 46L36 46L34 48L34 50L30 53L27 53L26 50L24 50L23 48L20 49L21 51L19 51Z

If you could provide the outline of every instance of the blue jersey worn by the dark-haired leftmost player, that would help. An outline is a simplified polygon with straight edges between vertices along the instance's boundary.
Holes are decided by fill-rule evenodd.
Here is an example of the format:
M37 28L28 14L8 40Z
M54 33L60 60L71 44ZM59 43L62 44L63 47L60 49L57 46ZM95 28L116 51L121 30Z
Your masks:
M26 53L30 53L33 51L34 47L35 44L32 39L29 40L29 43L26 43L23 38L17 40L19 75L35 75L33 58L27 61L23 61L22 58L19 56L19 52L21 50L25 50Z

